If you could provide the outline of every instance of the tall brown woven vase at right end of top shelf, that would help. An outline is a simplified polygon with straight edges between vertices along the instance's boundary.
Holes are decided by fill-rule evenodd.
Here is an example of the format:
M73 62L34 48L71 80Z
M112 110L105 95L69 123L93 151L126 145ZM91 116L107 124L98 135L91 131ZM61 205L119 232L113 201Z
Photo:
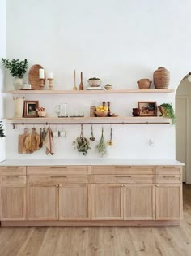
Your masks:
M165 67L159 67L153 73L155 89L168 89L170 72Z

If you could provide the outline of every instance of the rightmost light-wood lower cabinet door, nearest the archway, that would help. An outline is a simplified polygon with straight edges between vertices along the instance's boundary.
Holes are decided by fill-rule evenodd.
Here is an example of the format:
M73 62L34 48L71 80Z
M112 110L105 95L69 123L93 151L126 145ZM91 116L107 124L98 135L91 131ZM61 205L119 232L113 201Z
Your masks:
M182 217L182 185L156 184L156 220L180 220Z

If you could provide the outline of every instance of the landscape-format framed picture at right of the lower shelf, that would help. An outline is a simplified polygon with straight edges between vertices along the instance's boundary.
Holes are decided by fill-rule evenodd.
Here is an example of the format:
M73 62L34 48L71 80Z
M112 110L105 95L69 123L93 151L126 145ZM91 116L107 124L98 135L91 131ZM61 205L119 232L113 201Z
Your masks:
M139 116L157 116L156 102L138 102Z

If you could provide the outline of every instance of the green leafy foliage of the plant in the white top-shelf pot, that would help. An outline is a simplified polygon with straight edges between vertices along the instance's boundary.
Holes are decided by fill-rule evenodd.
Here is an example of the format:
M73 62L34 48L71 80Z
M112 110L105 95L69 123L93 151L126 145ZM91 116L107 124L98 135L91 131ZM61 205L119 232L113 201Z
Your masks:
M28 60L24 59L22 61L19 61L19 59L3 59L2 63L4 67L9 69L11 75L13 77L23 78L24 73L27 72L28 68Z

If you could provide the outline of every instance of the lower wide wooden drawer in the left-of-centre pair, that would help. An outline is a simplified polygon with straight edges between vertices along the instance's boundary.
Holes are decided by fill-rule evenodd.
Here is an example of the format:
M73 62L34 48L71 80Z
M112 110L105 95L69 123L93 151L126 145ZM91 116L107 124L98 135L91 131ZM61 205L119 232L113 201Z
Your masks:
M89 184L91 176L86 174L29 175L27 184Z

